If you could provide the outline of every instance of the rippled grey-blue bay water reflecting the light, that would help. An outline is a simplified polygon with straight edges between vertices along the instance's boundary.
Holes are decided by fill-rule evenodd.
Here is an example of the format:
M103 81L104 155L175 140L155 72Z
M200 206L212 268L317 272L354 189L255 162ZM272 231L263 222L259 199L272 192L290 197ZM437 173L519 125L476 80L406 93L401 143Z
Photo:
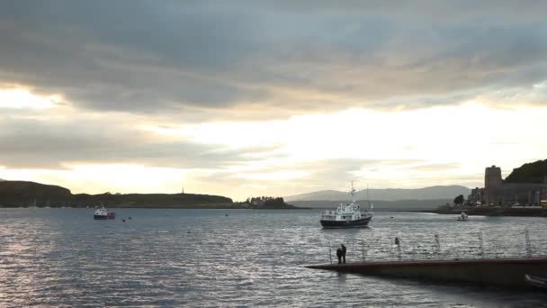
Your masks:
M350 262L399 258L395 236L401 258L465 257L480 247L490 256L547 255L545 218L376 213L369 229L322 230L315 210L114 211L115 221L94 221L93 209L0 209L0 306L547 306L547 294L533 291L303 267L329 262L328 247L340 242Z

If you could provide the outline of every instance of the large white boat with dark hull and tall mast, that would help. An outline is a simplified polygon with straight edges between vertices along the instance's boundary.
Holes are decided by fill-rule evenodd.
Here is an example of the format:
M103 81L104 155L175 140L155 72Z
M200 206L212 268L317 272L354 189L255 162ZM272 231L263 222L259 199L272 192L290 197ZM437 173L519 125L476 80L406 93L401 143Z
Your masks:
M355 189L352 183L352 202L339 204L336 210L327 210L321 213L321 226L326 229L334 228L363 228L372 219L374 213L369 210L361 210L361 206L355 202ZM369 205L372 210L372 204Z

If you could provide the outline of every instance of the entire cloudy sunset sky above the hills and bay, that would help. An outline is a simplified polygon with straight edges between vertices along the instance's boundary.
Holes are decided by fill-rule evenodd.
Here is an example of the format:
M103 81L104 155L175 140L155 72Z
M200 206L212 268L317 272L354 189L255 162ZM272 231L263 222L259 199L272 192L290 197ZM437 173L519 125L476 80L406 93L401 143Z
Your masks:
M0 0L0 178L483 186L547 159L547 2Z

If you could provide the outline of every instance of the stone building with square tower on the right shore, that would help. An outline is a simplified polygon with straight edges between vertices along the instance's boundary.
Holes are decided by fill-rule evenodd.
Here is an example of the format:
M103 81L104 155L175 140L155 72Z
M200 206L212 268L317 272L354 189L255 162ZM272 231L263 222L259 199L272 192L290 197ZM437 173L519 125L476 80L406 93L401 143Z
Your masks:
M471 191L470 201L486 205L540 205L547 199L547 177L540 183L507 182L501 177L501 168L494 166L485 169L484 188Z

